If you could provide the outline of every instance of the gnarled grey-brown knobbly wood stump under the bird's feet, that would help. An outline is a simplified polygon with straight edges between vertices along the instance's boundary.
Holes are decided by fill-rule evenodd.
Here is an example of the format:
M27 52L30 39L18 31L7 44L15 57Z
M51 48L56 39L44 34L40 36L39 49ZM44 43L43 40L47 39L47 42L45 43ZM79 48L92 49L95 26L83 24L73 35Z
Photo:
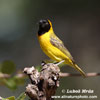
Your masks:
M31 84L26 87L26 94L32 100L53 100L52 95L55 94L59 87L60 69L56 64L45 64L40 72L34 67L25 68Z

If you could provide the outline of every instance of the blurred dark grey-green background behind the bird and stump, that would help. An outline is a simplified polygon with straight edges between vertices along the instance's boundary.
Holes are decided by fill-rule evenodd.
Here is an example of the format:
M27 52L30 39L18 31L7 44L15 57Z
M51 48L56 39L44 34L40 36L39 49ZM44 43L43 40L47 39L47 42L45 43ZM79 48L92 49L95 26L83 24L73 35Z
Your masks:
M0 0L0 62L12 60L19 70L48 59L37 40L40 19L52 21L85 72L100 72L100 0ZM77 73L66 66L62 71ZM64 95L62 89L93 89L100 100L100 77L67 77L60 83L56 95ZM0 86L0 96L17 97L24 90L25 86L16 91Z

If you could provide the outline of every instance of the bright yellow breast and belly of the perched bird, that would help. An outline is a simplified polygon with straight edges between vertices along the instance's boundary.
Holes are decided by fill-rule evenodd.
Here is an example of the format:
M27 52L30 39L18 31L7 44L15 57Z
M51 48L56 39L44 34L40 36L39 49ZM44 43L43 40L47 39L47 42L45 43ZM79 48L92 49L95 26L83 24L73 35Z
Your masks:
M39 42L44 53L51 59L58 62L66 59L66 55L50 43L48 34L40 36Z

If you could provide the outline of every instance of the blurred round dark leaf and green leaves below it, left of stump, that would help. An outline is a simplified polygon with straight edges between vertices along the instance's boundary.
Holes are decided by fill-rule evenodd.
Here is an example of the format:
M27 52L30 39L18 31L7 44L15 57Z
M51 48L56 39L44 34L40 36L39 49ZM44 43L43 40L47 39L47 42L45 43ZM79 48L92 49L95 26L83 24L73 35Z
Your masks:
M0 63L0 73L1 74L7 74L9 77L3 77L0 78L0 83L2 85L7 86L11 90L15 90L18 85L23 85L25 83L26 77L20 77L19 75L21 73L18 73L17 75L13 76L16 69L16 65L13 61L5 60Z

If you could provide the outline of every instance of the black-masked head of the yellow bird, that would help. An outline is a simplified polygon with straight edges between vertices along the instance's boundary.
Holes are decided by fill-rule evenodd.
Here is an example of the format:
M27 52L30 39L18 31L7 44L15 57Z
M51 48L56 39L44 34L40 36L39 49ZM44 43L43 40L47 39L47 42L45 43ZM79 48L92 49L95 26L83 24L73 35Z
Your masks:
M45 32L48 32L51 28L51 22L50 20L40 20L39 21L39 31L38 31L38 35L42 35Z

